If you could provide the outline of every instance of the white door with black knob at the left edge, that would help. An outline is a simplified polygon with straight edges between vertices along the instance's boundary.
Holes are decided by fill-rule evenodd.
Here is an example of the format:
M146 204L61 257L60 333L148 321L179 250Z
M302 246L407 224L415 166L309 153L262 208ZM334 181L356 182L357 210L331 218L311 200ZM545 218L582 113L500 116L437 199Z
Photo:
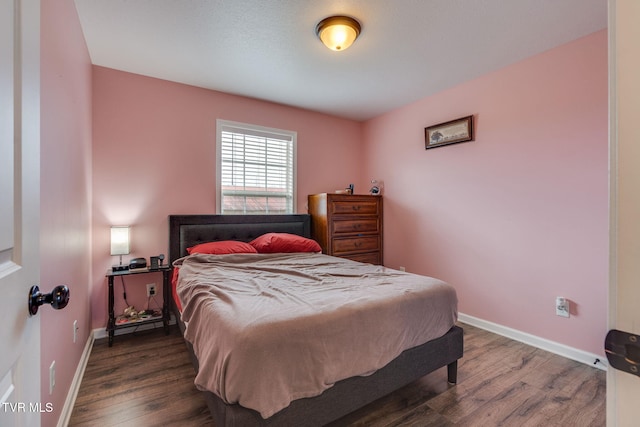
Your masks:
M40 2L0 1L0 426L39 426Z

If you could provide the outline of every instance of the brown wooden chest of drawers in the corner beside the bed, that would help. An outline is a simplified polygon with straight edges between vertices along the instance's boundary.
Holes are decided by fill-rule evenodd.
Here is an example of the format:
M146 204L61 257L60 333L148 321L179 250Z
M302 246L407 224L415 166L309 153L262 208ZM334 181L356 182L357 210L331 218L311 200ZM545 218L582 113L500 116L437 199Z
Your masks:
M382 196L323 193L308 201L323 253L382 265Z

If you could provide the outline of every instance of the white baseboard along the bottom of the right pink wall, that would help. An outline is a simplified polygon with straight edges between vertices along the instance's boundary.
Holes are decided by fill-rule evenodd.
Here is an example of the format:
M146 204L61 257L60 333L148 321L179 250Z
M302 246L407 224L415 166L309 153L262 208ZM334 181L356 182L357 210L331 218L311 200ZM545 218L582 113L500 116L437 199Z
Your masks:
M466 323L468 325L475 326L480 329L484 329L486 331L493 332L495 334L502 335L516 341L520 341L533 347L555 353L559 356L566 357L567 359L575 360L577 362L584 363L585 365L602 369L603 371L606 371L608 367L607 358L598 354L578 350L577 348L569 347L555 341L540 338L526 332L498 325L497 323L482 320L463 313L458 314L458 320L462 323Z

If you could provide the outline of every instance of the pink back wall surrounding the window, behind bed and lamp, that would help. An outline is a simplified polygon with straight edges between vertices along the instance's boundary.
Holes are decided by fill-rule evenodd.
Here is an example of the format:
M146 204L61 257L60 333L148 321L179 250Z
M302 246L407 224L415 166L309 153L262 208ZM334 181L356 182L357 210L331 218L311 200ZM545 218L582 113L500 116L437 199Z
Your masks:
M358 122L102 67L93 68L93 98L94 328L106 325L104 273L117 262L110 225L132 226L125 260L148 258L167 253L169 214L216 212L216 119L297 131L298 212L309 193L365 187ZM136 279L127 300L146 308L144 285L161 277ZM119 282L115 290L122 312Z

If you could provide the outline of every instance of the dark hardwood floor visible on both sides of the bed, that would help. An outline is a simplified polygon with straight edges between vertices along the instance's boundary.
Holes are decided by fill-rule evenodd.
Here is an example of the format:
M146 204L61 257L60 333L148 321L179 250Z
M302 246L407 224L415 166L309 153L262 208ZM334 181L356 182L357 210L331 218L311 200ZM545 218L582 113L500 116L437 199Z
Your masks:
M331 427L605 425L604 371L461 326L457 385L443 368ZM97 340L69 425L213 425L194 376L177 328Z

